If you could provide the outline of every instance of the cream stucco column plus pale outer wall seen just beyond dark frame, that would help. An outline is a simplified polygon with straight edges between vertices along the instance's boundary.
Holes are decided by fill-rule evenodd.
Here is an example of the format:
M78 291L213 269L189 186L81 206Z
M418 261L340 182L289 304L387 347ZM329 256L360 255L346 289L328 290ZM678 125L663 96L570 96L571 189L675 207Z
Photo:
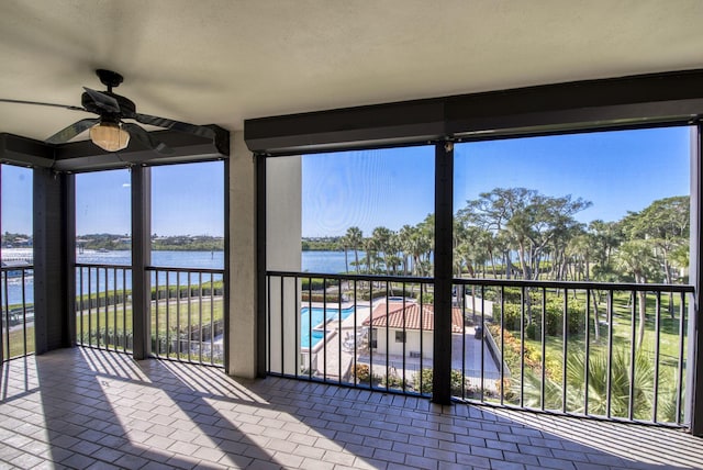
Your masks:
M233 133L230 157L230 354L227 373L254 378L257 369L256 302L256 165L241 132ZM300 270L301 243L301 159L267 160L267 259L269 270ZM286 299L293 299L293 282L287 282ZM271 289L271 370L280 368L281 323L280 283ZM294 309L284 306L282 332L287 356L295 348ZM290 333L293 333L292 335ZM275 339L274 339L275 338ZM293 361L286 363L291 372Z

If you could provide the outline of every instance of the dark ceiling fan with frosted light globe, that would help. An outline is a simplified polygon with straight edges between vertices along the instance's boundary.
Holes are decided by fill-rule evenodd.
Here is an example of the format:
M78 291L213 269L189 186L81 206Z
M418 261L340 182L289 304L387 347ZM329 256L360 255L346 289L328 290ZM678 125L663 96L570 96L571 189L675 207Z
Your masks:
M147 148L164 155L172 155L174 150L166 144L155 138L137 124L124 122L134 120L141 124L154 125L185 132L207 138L215 138L215 132L202 125L188 124L166 118L158 118L136 112L134 102L125 97L113 93L112 89L122 83L124 78L112 70L96 70L100 81L108 87L105 91L97 91L83 87L86 90L81 96L82 107L66 104L43 103L37 101L22 101L0 98L0 102L37 104L42 107L64 108L71 111L83 111L98 114L98 118L88 118L77 121L66 128L58 131L45 142L49 144L64 144L78 134L90 130L90 139L93 144L107 152L119 152L126 148L130 137L134 137Z

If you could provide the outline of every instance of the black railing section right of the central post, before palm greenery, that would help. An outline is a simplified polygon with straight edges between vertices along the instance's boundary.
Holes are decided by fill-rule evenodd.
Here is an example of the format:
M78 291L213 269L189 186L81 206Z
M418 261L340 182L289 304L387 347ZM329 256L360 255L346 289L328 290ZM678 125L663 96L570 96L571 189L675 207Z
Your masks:
M464 318L460 339L455 338L460 344L453 348L455 396L687 424L682 400L692 287L493 279L454 283L454 309Z

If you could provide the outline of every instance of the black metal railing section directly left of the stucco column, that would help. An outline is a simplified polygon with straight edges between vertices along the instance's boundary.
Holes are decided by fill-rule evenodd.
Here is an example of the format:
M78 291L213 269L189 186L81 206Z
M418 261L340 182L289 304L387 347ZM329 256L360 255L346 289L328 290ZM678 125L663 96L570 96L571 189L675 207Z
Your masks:
M149 267L152 352L159 358L224 365L223 269Z

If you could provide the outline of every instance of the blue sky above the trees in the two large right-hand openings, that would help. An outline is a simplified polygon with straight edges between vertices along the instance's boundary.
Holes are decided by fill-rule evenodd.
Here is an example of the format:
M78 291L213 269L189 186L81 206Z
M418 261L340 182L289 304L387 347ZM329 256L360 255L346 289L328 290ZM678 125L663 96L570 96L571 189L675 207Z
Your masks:
M524 187L591 201L581 222L620 220L690 193L689 142L688 127L669 127L457 144L455 211L481 192ZM303 236L417 224L434 212L433 166L433 146L305 156Z

